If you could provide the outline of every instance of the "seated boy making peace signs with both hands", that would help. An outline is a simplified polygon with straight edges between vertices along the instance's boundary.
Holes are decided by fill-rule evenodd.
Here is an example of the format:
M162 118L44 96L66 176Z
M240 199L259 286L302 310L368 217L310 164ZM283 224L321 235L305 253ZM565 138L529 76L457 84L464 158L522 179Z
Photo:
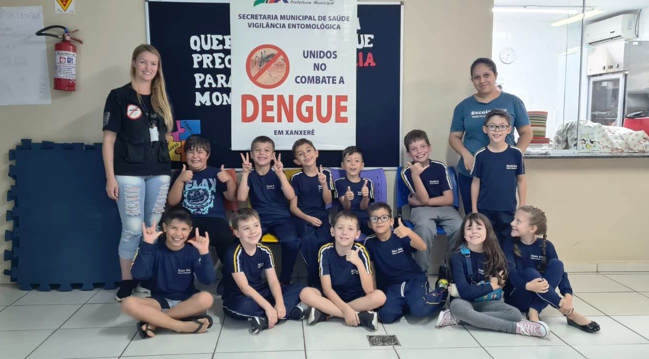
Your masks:
M300 240L288 208L288 201L293 200L295 191L284 174L282 155L275 156L275 142L272 139L258 136L252 140L250 153L245 157L241 154L241 161L243 172L237 199L245 202L250 194L250 204L259 213L263 233L270 233L279 239L282 246L280 283L291 283ZM271 161L274 161L272 167Z

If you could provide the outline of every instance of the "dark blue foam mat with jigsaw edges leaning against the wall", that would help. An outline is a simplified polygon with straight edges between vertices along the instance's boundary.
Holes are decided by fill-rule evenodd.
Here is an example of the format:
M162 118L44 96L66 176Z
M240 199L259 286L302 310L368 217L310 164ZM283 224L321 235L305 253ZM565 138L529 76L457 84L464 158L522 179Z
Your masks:
M101 143L31 143L23 140L9 153L7 192L14 208L6 219L13 231L8 274L23 290L115 288L120 281L117 244L121 222L117 205L106 196Z

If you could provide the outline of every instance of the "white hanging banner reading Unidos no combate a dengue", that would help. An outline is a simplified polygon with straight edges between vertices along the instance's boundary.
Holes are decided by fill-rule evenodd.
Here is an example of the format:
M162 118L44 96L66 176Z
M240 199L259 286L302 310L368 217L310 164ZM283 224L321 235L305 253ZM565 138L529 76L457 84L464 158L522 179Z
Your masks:
M267 135L319 150L356 144L356 0L236 0L232 150Z

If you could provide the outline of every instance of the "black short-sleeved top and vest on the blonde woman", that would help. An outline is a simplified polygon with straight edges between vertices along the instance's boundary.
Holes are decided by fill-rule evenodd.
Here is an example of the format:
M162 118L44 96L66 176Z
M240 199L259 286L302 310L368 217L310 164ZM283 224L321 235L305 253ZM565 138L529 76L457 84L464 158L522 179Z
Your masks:
M117 133L113 155L116 176L158 176L171 171L164 118L154 112L151 95L140 97L141 102L129 83L111 90L106 98L103 130ZM152 128L157 128L157 139ZM175 131L174 121L169 132Z

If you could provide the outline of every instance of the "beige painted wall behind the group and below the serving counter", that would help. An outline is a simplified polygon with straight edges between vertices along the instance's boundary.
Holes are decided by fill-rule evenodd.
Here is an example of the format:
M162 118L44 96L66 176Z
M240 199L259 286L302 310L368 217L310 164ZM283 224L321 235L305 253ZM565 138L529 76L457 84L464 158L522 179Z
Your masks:
M492 1L406 0L404 132L426 130L434 157L454 164L447 142L453 108L472 93L469 65L491 54ZM52 91L52 104L0 106L0 154L21 138L101 142L108 91L128 80L130 52L145 41L144 5L135 0L76 0L77 14L56 15L52 0L3 0L3 6L43 6L45 26L80 29L77 92ZM50 76L55 40L48 40ZM0 156L0 172L9 163ZM648 261L643 224L649 203L649 159L532 160L529 201L550 217L550 236L567 261ZM388 173L393 188L394 172ZM0 189L13 181L0 176ZM2 196L4 198L4 196ZM392 198L389 198L392 202ZM13 203L0 202L0 210ZM0 233L11 223L0 224ZM610 245L610 242L614 242ZM10 242L0 240L0 251ZM6 268L6 262L0 264ZM0 283L8 281L0 275Z

